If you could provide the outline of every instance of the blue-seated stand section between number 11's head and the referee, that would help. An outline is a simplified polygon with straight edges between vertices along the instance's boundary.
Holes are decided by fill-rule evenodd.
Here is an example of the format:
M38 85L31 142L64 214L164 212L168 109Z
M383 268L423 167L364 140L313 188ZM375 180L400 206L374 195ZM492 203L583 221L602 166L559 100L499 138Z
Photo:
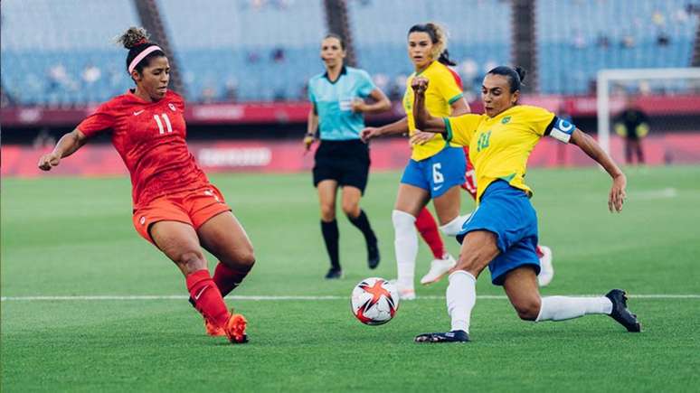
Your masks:
M160 10L191 100L306 99L322 70L320 1L160 0Z

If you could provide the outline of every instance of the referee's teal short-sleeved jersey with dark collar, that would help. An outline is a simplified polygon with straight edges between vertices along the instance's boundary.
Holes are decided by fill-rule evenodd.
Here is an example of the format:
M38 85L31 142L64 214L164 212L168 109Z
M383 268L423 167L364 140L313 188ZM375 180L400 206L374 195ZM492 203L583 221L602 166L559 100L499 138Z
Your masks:
M376 89L365 70L343 67L338 79L328 79L328 73L318 74L308 80L308 99L318 115L321 140L345 141L360 138L364 117L353 112L355 98L367 98Z

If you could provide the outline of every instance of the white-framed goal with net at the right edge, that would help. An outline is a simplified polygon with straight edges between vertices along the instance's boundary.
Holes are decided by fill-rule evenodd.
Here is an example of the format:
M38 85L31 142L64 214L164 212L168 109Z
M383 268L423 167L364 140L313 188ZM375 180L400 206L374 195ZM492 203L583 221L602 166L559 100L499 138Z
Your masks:
M700 68L601 70L597 87L599 142L617 162L700 164Z

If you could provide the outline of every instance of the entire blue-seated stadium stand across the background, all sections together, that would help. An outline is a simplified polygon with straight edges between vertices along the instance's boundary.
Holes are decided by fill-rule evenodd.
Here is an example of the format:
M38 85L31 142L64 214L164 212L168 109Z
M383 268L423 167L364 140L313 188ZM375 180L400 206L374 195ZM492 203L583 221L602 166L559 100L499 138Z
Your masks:
M317 60L327 29L323 1L208 0L206 6L154 1L190 102L306 100L307 79L323 70ZM591 94L596 71L604 68L688 67L700 32L691 3L537 0L535 92ZM3 105L84 106L128 89L125 52L110 41L127 26L141 24L134 4L3 2ZM347 0L346 5L357 65L393 99L401 97L412 71L406 33L415 23L447 28L468 98L478 97L487 70L513 61L510 1Z

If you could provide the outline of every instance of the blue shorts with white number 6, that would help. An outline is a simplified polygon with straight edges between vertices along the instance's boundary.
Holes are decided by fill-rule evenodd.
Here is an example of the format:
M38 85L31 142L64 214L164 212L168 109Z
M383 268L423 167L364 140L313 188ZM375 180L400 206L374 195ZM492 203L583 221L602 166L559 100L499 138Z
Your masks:
M461 147L446 146L440 153L425 160L410 160L403 170L401 182L430 192L438 198L450 188L464 184L467 158Z

